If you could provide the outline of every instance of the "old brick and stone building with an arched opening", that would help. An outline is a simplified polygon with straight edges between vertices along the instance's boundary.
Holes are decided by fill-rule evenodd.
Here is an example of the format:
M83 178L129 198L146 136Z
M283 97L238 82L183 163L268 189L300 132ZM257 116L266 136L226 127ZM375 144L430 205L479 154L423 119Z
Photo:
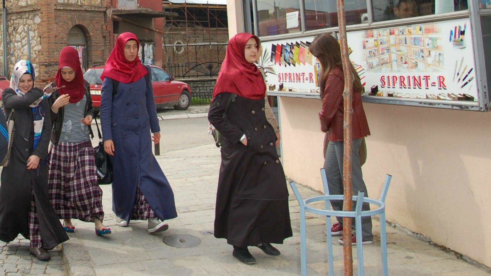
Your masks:
M84 68L103 64L117 34L125 31L141 40L145 62L161 66L163 17L175 15L163 12L160 0L5 0L5 6L8 72L2 73L10 76L17 60L28 58L28 31L39 84L53 80L63 47L78 49ZM3 68L3 58L0 64Z

